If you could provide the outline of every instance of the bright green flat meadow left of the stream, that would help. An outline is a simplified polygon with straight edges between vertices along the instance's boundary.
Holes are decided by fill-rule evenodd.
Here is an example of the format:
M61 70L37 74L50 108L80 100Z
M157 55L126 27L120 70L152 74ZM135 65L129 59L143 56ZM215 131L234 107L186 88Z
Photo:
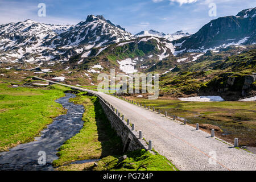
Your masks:
M0 84L0 151L34 140L53 118L65 113L55 100L64 96L67 88L13 88Z

